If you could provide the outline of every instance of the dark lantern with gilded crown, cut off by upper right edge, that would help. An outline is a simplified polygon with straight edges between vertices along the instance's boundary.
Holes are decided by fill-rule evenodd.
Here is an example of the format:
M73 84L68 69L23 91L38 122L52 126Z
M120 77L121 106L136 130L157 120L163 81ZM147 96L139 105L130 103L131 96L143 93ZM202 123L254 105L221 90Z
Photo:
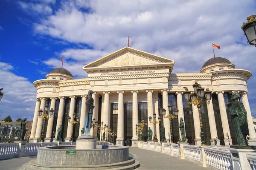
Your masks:
M244 31L244 35L247 38L247 42L250 45L254 45L256 47L256 15L251 15L247 17L247 22L243 24L241 27Z

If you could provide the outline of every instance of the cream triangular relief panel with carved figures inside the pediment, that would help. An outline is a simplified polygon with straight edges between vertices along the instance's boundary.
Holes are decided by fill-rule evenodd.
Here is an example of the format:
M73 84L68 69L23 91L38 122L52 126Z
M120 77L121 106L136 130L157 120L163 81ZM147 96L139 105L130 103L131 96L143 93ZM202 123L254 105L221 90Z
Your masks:
M99 67L111 67L111 66L122 66L122 65L142 65L142 64L154 64L158 63L150 59L136 56L134 54L124 54L116 59L106 62Z

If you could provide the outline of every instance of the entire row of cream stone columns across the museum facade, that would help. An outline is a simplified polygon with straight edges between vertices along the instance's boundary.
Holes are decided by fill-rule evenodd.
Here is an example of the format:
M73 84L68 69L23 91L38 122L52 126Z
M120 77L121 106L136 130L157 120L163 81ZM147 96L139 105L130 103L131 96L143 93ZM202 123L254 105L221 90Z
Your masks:
M163 108L168 109L168 89L163 89L161 90L163 94ZM148 117L151 116L153 117L153 90L146 90L147 93L147 101L148 101ZM118 123L117 123L117 138L116 138L116 144L117 145L123 145L124 142L124 105L123 105L123 96L124 96L124 91L117 91L118 93ZM132 119L132 128L133 128L133 136L132 136L132 141L133 144L137 144L137 135L136 135L136 124L138 122L138 90L133 90L131 91L132 93L132 102L133 102L133 119ZM110 125L110 103L109 103L109 95L111 94L110 91L104 91L104 109L102 113L102 122L106 123L107 125ZM221 114L221 122L222 122L222 128L223 128L223 133L224 133L224 142L225 145L229 145L228 143L228 138L226 134L230 134L230 129L228 125L228 119L227 119L227 111L226 111L226 106L224 102L224 91L218 91L216 92L218 95L218 103L219 103L219 108L220 108L220 114ZM184 119L184 113L183 113L183 100L182 100L182 92L176 92L177 95L177 109L179 110L178 113L178 121L180 121L180 117ZM71 102L70 102L70 111L69 111L69 116L71 117L72 121L72 115L75 111L75 103L76 103L76 96L70 96ZM82 105L81 105L81 122L85 121L85 110L86 110L86 99L87 95L82 95ZM249 127L249 132L250 132L250 142L256 142L256 135L254 132L254 126L253 126L253 121L252 121L252 116L250 112L250 106L247 98L247 93L244 92L241 94L242 102L244 104L244 107L247 111L247 119L248 119L248 127ZM55 102L57 98L51 98L51 107L50 108L55 108ZM58 110L58 119L57 119L57 125L56 125L56 130L58 129L59 125L62 123L63 119L63 114L64 114L64 100L66 99L65 97L59 97L60 99L60 104L59 104L59 110ZM93 94L93 99L94 99L94 105L95 108L93 110L93 117L98 120L98 107L99 107L99 95L94 92ZM41 102L40 102L41 100ZM43 120L39 119L38 120L38 110L41 108L44 111L44 106L46 103L46 98L40 98L37 99L36 101L36 106L35 106L35 112L34 112L34 119L33 119L33 125L32 125L32 131L31 131L31 139L39 139L41 137L41 132L42 132L42 124ZM199 114L198 114L198 108L194 105L192 105L192 111L193 111L193 120L194 120L194 127L195 127L195 144L196 145L201 145L201 138L200 138L200 121L199 121ZM216 123L215 123L215 116L214 116L214 111L213 111L213 105L212 105L212 100L210 100L209 105L207 105L207 111L208 111L208 117L209 117L209 127L210 127L210 133L211 133L211 144L213 144L213 140L217 139L218 144L219 144L219 139L217 135L217 128L216 128ZM54 115L54 114L53 114ZM52 133L52 126L53 126L53 119L49 118L48 121L48 126L47 126L47 134L45 140L50 140L51 139L51 133ZM99 122L100 123L100 122ZM148 120L149 123L149 120ZM170 132L170 124L169 124L169 119L163 119L163 125L166 129L165 135L168 136L168 133ZM184 122L185 123L185 122ZM186 123L185 123L186 125ZM84 127L84 123L80 123L79 126L79 136L81 135L81 129ZM152 128L153 130L154 128ZM95 131L91 129L91 133L94 133L96 136L97 134L97 128L94 129ZM69 141L71 139L71 132L72 131L72 125L68 124L67 127L67 137L65 141ZM154 130L153 130L154 134ZM180 135L181 136L181 135ZM232 139L230 139L230 144L232 144ZM252 143L251 143L252 144Z

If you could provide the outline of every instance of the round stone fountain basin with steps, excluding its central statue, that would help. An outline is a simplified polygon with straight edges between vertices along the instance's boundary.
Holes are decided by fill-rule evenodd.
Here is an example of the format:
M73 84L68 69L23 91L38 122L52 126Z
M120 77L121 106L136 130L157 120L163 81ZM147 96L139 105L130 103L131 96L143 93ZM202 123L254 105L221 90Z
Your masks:
M97 145L97 149L92 150L75 148L76 146L40 147L37 159L24 164L23 170L125 170L139 166L138 161L129 157L129 147L126 146Z

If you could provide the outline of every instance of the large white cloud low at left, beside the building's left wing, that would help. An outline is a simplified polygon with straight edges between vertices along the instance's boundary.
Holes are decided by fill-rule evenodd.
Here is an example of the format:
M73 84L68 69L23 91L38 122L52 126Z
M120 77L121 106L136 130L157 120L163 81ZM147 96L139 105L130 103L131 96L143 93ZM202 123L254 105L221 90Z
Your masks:
M0 88L3 98L0 102L0 119L10 115L13 120L26 117L32 120L35 111L36 88L25 77L12 73L13 66L0 62ZM30 102L28 102L30 101Z

